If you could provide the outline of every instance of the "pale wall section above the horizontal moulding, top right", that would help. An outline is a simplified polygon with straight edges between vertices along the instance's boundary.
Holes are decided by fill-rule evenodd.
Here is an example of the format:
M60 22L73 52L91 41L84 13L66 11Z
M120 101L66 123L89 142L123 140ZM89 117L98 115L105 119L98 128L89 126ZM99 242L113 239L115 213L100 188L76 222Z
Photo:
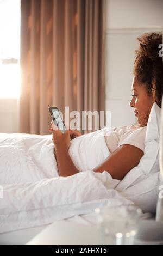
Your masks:
M106 0L106 28L162 26L162 0Z

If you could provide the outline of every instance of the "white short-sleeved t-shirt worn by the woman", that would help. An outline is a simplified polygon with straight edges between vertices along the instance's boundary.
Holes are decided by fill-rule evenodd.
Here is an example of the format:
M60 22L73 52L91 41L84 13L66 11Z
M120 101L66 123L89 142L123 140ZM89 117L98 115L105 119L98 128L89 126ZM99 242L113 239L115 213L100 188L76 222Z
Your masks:
M144 151L146 129L147 126L140 125L113 127L105 134L105 142L110 153L124 144L134 145Z

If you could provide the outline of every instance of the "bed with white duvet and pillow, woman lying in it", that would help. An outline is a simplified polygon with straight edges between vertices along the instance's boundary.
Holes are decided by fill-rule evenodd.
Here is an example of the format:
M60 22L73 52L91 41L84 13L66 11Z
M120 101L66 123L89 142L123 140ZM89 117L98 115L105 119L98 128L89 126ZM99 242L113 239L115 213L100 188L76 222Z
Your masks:
M66 178L58 176L51 136L1 133L0 244L25 244L56 221L74 221L80 216L80 221L89 222L95 209L104 206L136 204L153 216L162 184L160 112L154 103L147 125L145 154L122 181L112 179L108 172L91 170L108 154L103 136L108 131L106 127L78 140L81 151L72 145L70 154L80 172ZM94 158L87 161L92 149Z

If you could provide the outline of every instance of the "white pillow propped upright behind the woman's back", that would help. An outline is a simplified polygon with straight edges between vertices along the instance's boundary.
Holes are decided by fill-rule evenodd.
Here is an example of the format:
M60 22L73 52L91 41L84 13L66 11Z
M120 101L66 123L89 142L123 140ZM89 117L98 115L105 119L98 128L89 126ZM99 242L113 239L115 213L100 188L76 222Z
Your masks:
M160 115L161 108L154 103L147 124L144 155L138 166L131 169L116 187L123 196L133 200L144 212L155 212L158 187L161 184L159 173Z

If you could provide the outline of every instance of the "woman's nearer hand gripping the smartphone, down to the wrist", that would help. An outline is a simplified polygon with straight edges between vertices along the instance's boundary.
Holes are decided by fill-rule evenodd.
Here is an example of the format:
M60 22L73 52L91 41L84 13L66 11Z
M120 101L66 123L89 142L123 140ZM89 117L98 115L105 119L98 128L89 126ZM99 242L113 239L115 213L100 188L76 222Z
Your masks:
M70 147L70 131L62 133L59 129L53 130L53 143L57 151L67 150Z

